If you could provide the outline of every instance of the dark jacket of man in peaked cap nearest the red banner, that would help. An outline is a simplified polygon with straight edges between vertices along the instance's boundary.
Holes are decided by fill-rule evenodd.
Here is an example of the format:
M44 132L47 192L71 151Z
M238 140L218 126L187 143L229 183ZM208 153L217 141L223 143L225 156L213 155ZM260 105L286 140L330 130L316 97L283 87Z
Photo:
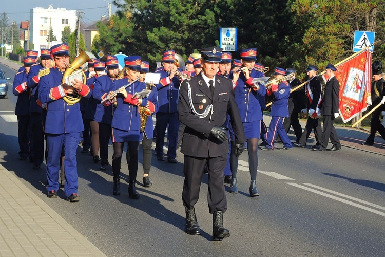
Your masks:
M339 82L336 77L333 77L326 82L325 89L323 90L322 115L334 115L334 113L338 113L338 105Z

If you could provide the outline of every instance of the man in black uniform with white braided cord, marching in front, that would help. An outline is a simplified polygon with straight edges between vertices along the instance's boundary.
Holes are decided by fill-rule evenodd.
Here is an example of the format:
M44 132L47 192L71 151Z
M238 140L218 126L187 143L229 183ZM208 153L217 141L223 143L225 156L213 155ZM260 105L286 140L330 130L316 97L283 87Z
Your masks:
M233 93L232 81L217 75L222 49L208 47L201 50L202 72L186 79L180 86L178 117L186 125L181 152L184 154L183 205L186 208L186 232L199 235L200 229L194 206L205 165L208 167L208 208L213 214L213 240L230 236L223 227L223 213L227 210L223 169L227 163L228 137L224 123L231 117L239 156L246 137Z

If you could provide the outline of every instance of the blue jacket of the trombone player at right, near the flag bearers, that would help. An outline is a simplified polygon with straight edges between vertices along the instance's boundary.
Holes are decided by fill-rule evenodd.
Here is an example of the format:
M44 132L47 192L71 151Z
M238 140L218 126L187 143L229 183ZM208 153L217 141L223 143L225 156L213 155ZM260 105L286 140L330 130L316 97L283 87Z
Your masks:
M270 116L288 117L288 97L290 96L290 85L287 81L278 84L278 90L273 91L274 99Z

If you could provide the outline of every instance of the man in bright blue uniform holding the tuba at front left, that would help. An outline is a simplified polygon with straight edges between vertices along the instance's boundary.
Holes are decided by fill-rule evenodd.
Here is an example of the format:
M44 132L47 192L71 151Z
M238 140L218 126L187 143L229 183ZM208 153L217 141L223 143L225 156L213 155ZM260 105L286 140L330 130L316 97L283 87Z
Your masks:
M64 145L64 193L68 201L79 201L78 168L76 163L76 149L79 144L79 133L84 130L79 102L70 104L63 97L72 94L74 90L82 97L90 97L90 89L83 81L70 81L71 86L62 84L62 78L69 65L67 44L51 47L55 67L48 75L39 81L38 99L46 104L47 117L45 132L47 133L47 196L57 197L59 190L59 171L62 146Z

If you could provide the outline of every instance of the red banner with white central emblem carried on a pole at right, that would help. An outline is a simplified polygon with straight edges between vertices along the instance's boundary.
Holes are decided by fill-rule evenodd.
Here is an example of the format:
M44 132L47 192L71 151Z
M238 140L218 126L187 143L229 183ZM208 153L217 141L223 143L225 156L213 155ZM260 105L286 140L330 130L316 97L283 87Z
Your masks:
M323 75L326 81L327 76ZM372 104L372 56L363 51L353 59L337 66L335 77L339 81L339 114L347 123Z

